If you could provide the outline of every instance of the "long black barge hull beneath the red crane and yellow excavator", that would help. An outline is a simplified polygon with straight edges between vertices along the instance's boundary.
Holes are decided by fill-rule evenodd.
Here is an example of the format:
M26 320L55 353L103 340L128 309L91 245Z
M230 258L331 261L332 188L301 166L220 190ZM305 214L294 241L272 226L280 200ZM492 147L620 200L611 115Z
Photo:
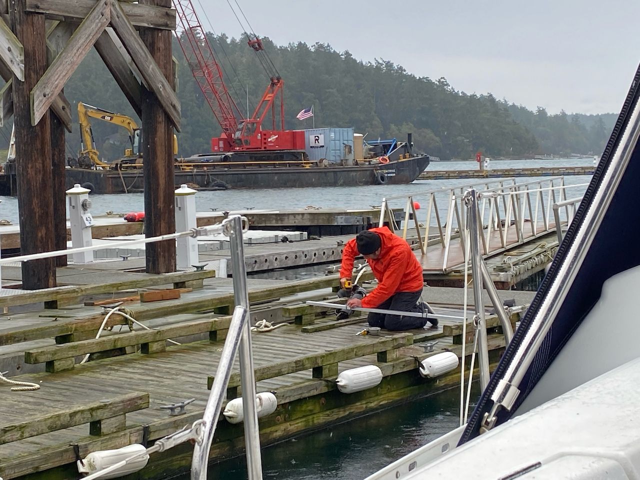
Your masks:
M386 164L358 166L237 166L214 164L176 170L175 184L199 190L308 188L357 185L408 184L429 165L429 156L415 156ZM143 172L131 170L84 170L67 168L66 186L80 184L93 193L143 191Z

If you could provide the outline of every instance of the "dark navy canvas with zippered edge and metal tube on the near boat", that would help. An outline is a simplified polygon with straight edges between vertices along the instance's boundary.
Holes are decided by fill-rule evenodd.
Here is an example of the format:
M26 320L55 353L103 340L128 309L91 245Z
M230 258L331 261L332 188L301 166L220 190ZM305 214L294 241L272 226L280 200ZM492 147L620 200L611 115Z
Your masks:
M495 414L495 425L506 422L536 386L538 380L547 371L549 365L572 337L573 333L580 327L582 319L586 317L600 298L602 284L605 280L617 273L640 265L640 248L636 244L636 242L640 243L640 215L638 214L640 211L638 206L638 199L640 198L640 146L637 143L633 143L636 140L628 141L632 123L634 127L637 127L637 112L636 116L634 116L634 109L639 107L639 83L640 67L636 70L634 80L611 138L609 138L602 159L596 168L575 218L559 246L556 257L540 285L531 307L527 310L520 327L513 337L513 341L502 356L497 369L491 376L488 387L484 390L476 409L472 413L467 428L461 437L460 444L479 435L486 414L490 414L489 418L493 417L491 413ZM621 143L623 137L628 142L625 145ZM637 134L633 133L631 137L637 139ZM626 155L626 164L623 164L620 150L630 152L630 154ZM593 211L589 212L589 210L591 207L598 206L598 199L602 200L602 196L607 194L603 189L609 188L609 186L605 184L604 180L605 174L608 171L611 173L611 168L620 169L621 175L618 188L613 192L610 201L607 199L608 207L601 217L602 221L597 225L593 225L589 223L588 213L593 218ZM584 232L584 228L581 228L583 226L596 229L595 232L591 230L593 241L588 246L587 252L580 252L581 255L584 255L582 262L569 267L577 269L577 271L573 272L575 278L567 285L564 300L559 305L556 316L552 318L550 329L543 337L534 359L529 365L525 366L522 380L519 381L518 385L515 385L519 390L515 403L509 410L497 408L493 412L494 399L499 395L497 389L504 387L504 383L501 386L499 382L504 382L504 376L514 358L522 355L521 346L523 340L531 329L534 319L540 314L543 301L552 298L551 295L554 292L551 287L554 280L559 276L564 257L568 255L570 249L575 252L576 246L584 245L579 232L579 230ZM518 353L519 348L521 351Z

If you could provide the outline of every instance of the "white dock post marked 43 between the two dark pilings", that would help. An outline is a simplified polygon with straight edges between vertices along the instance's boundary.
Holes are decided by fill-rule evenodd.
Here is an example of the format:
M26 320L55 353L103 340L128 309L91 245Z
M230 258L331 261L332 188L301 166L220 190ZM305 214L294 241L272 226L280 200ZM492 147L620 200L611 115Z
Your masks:
M93 216L91 214L91 200L89 200L88 188L82 188L75 184L74 188L67 190L69 205L69 221L71 223L71 246L81 248L92 246L91 227ZM74 264L93 262L93 252L80 252L72 255Z

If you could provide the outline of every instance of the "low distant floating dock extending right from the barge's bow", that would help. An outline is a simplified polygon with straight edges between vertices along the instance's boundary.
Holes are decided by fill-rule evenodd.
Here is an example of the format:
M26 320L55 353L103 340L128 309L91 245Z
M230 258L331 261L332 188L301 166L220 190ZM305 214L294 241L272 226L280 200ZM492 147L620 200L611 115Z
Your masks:
M491 168L488 170L425 170L418 180L497 179L501 177L553 177L593 175L595 166L549 166L539 168Z

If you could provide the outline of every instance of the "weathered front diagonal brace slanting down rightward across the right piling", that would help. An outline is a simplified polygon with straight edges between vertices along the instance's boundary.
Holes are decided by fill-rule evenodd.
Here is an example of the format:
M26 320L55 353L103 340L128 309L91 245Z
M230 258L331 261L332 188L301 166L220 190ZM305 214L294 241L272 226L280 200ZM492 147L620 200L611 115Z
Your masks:
M108 0L111 4L111 26L118 38L122 40L127 52L140 70L140 74L148 85L150 92L153 92L160 104L163 106L166 115L169 116L173 127L180 131L180 102L169 81L164 77L163 72L157 66L156 61L149 53L147 47L142 42L140 36L127 19L120 2Z

